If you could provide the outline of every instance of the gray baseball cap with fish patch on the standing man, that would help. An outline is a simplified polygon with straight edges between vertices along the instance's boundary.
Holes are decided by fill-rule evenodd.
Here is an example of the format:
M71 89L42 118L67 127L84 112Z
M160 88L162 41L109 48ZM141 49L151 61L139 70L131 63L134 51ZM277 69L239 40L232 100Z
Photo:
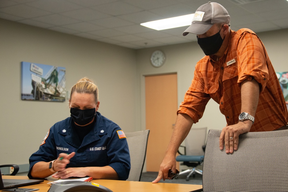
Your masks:
M196 10L191 25L182 35L186 36L188 33L204 34L214 23L230 23L230 15L219 3L208 2Z

